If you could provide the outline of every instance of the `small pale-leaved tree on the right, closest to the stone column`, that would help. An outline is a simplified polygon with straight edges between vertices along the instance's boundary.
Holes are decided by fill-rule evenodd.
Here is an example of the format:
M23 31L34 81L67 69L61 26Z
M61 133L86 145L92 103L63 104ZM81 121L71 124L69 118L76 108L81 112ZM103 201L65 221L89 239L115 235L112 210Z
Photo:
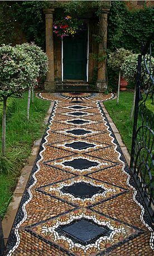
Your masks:
M118 79L118 93L117 93L117 104L119 104L119 91L120 91L120 83L121 83L121 67L124 62L124 59L132 54L131 50L126 50L124 48L117 49L114 53L109 53L108 64L109 66L119 72Z

